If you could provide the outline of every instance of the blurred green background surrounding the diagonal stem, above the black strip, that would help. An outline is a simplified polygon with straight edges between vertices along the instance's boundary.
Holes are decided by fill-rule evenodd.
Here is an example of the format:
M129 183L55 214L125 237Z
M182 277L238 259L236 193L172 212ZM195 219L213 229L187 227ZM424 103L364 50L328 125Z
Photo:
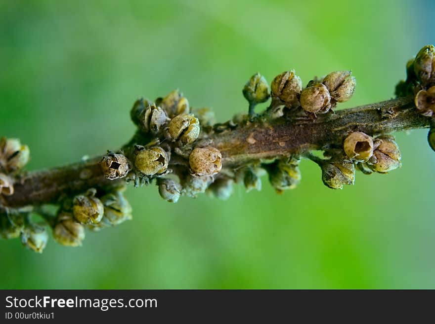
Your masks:
M92 3L91 3L92 2ZM434 43L431 1L0 1L0 133L29 144L29 170L116 149L129 110L180 88L225 121L246 80L352 69L343 107L393 96L406 61ZM133 220L50 238L43 254L0 241L0 288L435 288L435 154L427 130L397 134L403 166L330 190L303 161L281 195L237 186L169 204L127 196Z

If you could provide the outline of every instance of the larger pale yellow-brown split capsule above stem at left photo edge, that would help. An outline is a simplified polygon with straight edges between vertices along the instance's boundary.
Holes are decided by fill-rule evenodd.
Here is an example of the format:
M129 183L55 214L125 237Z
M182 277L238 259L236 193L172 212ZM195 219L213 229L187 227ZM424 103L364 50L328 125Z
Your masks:
M22 169L30 159L29 146L19 139L0 139L0 170L6 173Z

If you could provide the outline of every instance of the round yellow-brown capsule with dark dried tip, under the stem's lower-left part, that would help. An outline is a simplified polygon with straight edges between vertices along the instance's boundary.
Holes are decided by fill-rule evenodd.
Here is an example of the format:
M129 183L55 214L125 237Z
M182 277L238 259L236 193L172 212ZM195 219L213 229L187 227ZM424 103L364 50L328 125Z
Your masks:
M81 224L99 223L103 218L104 206L95 193L95 189L90 189L86 195L74 197L73 216Z

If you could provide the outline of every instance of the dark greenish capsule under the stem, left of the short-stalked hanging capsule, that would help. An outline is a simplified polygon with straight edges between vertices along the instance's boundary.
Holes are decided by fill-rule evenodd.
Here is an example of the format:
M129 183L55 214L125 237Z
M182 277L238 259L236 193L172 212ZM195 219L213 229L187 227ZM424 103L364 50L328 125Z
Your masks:
M290 161L277 161L268 167L270 184L277 192L294 189L301 182L298 164L299 159L292 158Z

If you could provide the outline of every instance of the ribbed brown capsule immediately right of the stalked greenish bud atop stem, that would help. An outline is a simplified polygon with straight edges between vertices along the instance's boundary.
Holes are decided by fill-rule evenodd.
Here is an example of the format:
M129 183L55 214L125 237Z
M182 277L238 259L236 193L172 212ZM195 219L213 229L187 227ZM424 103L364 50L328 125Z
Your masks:
M271 84L271 96L291 107L298 102L298 95L302 91L302 80L295 71L286 71L277 75Z

